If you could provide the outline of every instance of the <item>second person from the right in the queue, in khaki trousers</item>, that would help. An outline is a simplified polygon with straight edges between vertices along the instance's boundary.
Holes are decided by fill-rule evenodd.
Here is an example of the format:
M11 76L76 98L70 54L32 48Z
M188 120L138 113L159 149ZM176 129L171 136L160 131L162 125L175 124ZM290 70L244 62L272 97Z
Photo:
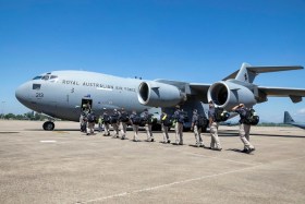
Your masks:
M210 127L210 149L221 151L220 141L218 137L218 120L216 119L216 109L212 100L209 101L209 127Z

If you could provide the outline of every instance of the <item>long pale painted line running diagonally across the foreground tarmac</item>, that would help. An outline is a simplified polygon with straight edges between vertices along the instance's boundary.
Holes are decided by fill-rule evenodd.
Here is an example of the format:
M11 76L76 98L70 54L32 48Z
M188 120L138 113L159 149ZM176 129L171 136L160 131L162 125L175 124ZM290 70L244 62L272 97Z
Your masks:
M305 156L290 158L290 159L283 159L283 160L278 160L278 161L274 161L274 163L298 160L298 159L303 159L303 158L305 158ZM162 189L162 188L167 188L167 187L172 187L172 185L176 185L176 184L181 184L181 183L188 183L188 182L192 182L192 181L200 181L200 180L205 180L205 179L209 179L209 178L213 178L213 177L219 177L219 176L224 176L224 175L230 175L230 173L235 173L235 172L242 172L242 171L255 169L255 168L258 168L258 167L261 167L261 166L272 165L274 163L261 164L261 165L257 165L257 166L253 166L253 167L242 168L242 169L239 169L239 170L220 172L220 173L209 175L209 176L194 178L194 179L186 179L186 180L182 180L182 181L171 182L171 183L167 183L167 184L156 185L156 187L141 189L141 190L131 191L131 192L123 192L123 193L119 193L119 194L114 194L114 195L109 195L109 196L103 196L103 197L99 197L99 199L95 199L95 200L89 200L89 201L84 201L84 202L76 202L76 203L77 204L78 203L86 204L86 203L101 202L101 201L106 201L106 200L110 200L110 199L115 199L115 197L123 197L123 196L126 196L126 195L132 195L132 194L147 192L147 191L154 191L154 190L158 190L158 189Z

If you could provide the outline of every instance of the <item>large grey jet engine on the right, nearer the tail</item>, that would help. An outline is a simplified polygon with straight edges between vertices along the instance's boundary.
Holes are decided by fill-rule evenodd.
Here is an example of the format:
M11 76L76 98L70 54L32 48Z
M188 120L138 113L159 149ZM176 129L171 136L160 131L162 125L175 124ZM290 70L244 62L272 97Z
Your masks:
M209 87L208 100L213 100L216 106L229 111L239 104L253 107L257 103L254 93L248 87L223 81Z

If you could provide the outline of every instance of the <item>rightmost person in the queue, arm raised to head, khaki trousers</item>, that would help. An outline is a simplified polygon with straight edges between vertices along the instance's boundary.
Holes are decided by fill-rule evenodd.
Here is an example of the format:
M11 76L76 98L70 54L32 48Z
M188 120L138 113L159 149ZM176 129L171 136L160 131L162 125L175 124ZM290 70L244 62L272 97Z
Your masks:
M237 112L240 115L240 137L242 142L244 143L244 149L243 153L251 153L255 151L255 147L249 143L249 130L251 124L246 122L247 116L248 116L248 109L245 107L244 104L240 104L232 108L232 111Z

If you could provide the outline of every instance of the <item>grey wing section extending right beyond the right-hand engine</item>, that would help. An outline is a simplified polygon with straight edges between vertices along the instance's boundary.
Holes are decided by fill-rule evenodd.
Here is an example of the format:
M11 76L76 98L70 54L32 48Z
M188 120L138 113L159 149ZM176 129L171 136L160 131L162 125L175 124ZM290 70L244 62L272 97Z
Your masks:
M267 96L290 97L293 103L300 103L305 97L305 89L302 88L258 86L258 91Z

